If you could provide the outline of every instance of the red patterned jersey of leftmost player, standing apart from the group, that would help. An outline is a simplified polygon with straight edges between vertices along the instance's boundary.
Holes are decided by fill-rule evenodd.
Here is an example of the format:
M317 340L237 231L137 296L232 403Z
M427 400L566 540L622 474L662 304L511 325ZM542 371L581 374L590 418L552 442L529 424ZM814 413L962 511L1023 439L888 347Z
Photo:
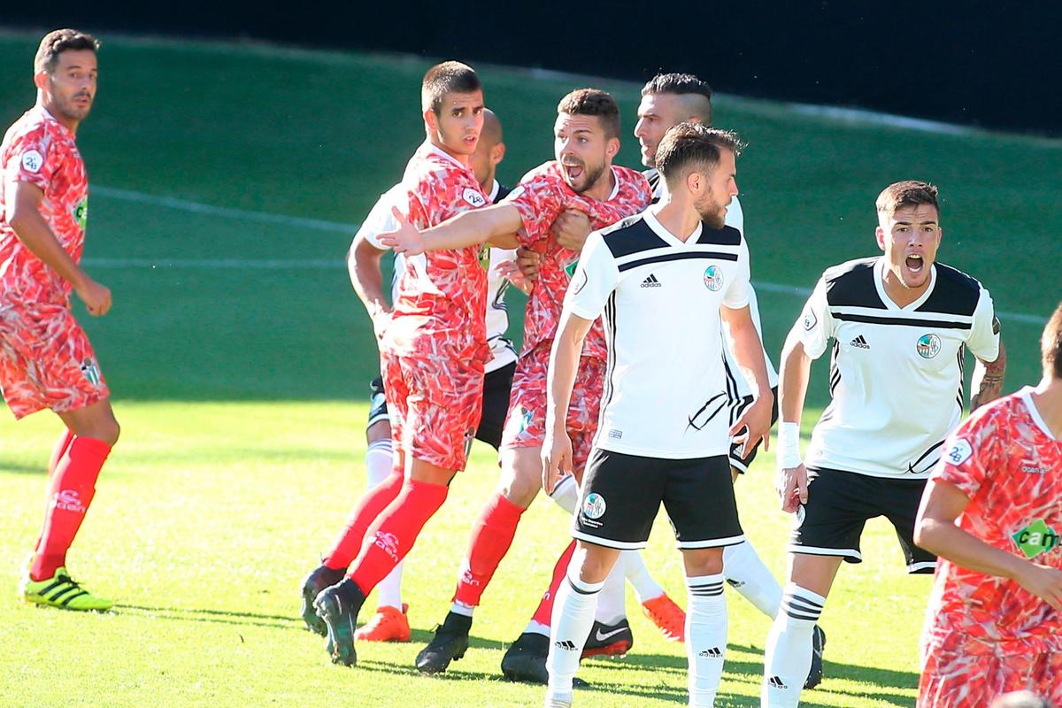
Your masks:
M0 144L0 297L8 303L70 305L70 283L34 256L7 223L16 183L45 192L40 214L78 262L85 244L88 176L73 133L40 105L7 128Z

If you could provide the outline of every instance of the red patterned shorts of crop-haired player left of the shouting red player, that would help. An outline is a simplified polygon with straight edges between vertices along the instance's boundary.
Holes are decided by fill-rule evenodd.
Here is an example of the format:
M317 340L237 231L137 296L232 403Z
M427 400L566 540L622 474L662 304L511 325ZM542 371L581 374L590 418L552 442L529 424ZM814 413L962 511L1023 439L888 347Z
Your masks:
M482 412L482 362L384 355L380 372L396 449L443 469L464 469Z

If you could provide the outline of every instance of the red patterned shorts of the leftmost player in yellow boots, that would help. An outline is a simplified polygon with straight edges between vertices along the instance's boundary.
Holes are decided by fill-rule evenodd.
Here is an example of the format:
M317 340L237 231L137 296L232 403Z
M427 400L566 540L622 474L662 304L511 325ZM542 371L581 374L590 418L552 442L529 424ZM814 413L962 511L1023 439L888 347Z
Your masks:
M76 411L110 395L88 336L62 305L0 301L0 388L16 418Z

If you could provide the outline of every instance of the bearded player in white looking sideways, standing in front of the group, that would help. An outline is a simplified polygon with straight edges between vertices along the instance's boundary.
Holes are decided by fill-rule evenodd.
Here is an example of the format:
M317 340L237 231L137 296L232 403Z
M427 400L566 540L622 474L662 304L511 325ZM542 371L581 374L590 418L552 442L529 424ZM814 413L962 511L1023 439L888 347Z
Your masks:
M727 453L767 436L772 395L749 312L749 252L726 229L737 193L733 133L681 123L661 141L668 194L590 235L567 292L549 362L542 481L573 469L566 415L583 341L607 332L601 421L572 535L578 549L553 608L547 706L570 706L582 644L621 550L644 548L664 504L686 570L689 705L712 706L726 650L723 547L743 540ZM689 326L690 313L699 318ZM721 322L730 325L753 403L730 425Z

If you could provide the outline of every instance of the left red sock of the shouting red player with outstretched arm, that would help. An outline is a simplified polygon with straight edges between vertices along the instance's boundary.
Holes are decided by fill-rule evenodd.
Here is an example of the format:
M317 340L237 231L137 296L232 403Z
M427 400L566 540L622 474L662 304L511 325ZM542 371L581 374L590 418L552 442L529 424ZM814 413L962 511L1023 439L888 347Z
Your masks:
M453 601L469 607L479 605L498 564L506 557L516 536L516 525L524 510L495 491L473 526L468 553L461 567L461 577Z

